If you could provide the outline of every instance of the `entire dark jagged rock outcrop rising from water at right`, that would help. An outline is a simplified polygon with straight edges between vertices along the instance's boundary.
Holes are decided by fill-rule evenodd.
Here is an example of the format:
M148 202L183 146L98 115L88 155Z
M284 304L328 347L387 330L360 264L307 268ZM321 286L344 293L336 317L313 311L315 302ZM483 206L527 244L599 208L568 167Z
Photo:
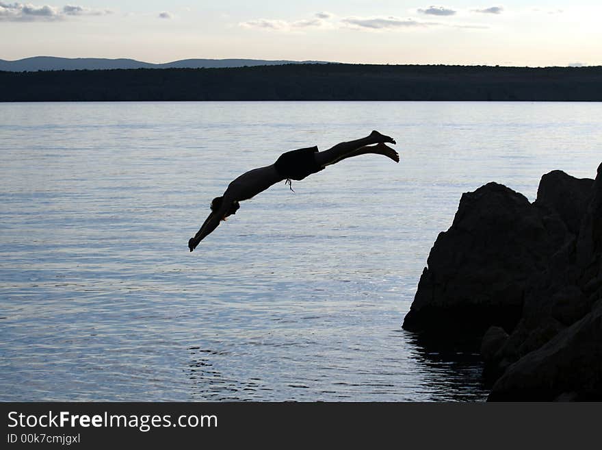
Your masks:
M544 175L533 204L495 183L462 195L404 328L480 333L492 401L599 399L601 298L602 164Z

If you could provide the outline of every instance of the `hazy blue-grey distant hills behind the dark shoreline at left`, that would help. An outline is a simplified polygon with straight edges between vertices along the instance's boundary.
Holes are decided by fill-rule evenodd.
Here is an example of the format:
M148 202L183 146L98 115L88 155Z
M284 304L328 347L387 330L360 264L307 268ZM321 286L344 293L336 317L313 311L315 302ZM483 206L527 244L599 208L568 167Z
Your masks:
M97 71L116 68L222 68L244 66L277 66L281 64L326 64L323 61L272 61L272 60L179 60L163 64L153 64L120 58L56 58L54 56L34 56L23 60L0 60L0 71L36 72L36 71Z

